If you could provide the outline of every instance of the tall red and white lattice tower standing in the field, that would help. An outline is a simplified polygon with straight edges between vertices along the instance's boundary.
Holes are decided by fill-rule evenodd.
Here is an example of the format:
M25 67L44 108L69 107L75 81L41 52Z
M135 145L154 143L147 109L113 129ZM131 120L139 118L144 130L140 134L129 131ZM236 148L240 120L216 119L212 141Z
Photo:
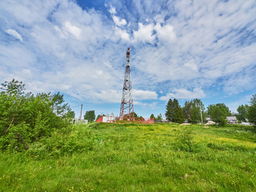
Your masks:
M122 87L122 101L119 119L126 118L128 121L134 121L134 102L131 95L130 82L130 48L126 51L126 74Z

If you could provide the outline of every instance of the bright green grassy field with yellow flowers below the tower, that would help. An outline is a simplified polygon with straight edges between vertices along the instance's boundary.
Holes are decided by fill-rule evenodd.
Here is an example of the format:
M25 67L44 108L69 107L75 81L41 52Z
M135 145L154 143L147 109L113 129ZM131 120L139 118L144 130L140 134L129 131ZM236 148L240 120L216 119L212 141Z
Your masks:
M78 125L0 155L0 191L256 191L249 126Z

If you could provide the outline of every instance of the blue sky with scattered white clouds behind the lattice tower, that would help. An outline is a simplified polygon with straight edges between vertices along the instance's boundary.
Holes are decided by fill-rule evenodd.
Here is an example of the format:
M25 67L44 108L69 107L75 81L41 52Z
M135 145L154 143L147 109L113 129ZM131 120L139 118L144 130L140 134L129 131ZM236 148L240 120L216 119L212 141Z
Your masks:
M255 15L255 0L2 0L0 82L118 116L129 46L136 114L170 98L236 112L256 94Z

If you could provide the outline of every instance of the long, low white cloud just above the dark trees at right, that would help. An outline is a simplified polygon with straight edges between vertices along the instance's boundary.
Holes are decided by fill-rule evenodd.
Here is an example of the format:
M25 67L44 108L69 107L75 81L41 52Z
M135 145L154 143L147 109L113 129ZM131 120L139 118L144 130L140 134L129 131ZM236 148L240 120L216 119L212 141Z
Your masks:
M169 93L166 96L162 96L160 100L166 101L169 98L204 98L206 94L201 88L194 88L194 90L186 89L174 89L174 94Z

